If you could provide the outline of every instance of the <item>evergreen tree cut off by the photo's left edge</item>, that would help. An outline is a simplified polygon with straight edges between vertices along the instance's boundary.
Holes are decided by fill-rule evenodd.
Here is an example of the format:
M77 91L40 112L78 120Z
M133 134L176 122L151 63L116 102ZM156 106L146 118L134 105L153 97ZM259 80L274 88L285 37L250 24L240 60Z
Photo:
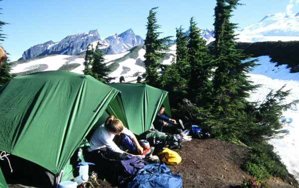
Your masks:
M1 0L0 0L1 1ZM0 8L1 10L2 8ZM7 23L0 21L0 41L4 41L5 34L2 33L2 26L6 25ZM8 82L13 76L9 73L10 71L10 63L8 60L5 60L3 65L0 66L0 86L4 85Z

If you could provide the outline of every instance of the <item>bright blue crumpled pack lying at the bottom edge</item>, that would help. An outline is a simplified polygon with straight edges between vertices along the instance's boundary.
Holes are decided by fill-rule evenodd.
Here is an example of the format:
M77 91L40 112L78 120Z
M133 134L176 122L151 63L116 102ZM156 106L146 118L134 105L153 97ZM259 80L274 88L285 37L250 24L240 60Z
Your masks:
M171 175L165 164L149 164L138 171L126 188L181 188L182 178Z

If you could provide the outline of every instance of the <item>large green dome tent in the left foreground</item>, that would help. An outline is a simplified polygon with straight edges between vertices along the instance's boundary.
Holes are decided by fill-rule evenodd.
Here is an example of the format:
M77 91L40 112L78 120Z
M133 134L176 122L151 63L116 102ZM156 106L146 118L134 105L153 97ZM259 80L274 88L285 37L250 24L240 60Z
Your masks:
M0 151L57 175L104 112L127 125L119 93L68 71L12 78L0 88Z

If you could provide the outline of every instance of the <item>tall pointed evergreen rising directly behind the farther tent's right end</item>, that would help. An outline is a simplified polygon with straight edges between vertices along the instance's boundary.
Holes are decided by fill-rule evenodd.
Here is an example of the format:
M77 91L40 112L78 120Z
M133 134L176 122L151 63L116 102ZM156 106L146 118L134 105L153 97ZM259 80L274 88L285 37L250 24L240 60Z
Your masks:
M165 53L162 53L162 50L167 50L165 46L167 42L170 41L170 37L165 37L159 39L160 32L157 32L157 29L160 26L157 24L156 20L156 11L157 7L151 8L149 10L148 25L147 25L147 36L145 40L146 54L145 54L145 66L146 72L143 77L145 78L145 83L153 86L160 86L159 73L157 72L158 68L161 68L161 63L159 60L164 57Z

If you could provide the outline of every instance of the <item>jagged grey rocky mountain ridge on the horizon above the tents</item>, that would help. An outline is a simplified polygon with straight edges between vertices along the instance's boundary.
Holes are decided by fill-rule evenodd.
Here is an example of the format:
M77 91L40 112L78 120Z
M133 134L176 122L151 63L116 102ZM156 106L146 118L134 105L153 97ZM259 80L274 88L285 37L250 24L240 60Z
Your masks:
M85 53L87 45L94 44L93 46L95 47L98 40L101 42L102 50L105 54L122 53L144 43L142 37L135 35L132 29L106 39L101 39L97 30L91 30L88 33L69 35L60 42L48 41L35 45L26 50L19 60L53 54L77 56Z

